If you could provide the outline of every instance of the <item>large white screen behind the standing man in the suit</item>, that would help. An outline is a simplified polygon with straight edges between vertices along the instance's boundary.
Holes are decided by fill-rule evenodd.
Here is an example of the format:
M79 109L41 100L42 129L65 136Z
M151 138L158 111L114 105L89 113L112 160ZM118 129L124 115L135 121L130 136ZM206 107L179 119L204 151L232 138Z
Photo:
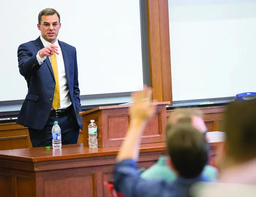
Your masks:
M25 99L17 49L38 38L38 13L48 7L60 13L58 39L76 47L80 95L143 88L138 0L8 0L0 2L0 101Z

